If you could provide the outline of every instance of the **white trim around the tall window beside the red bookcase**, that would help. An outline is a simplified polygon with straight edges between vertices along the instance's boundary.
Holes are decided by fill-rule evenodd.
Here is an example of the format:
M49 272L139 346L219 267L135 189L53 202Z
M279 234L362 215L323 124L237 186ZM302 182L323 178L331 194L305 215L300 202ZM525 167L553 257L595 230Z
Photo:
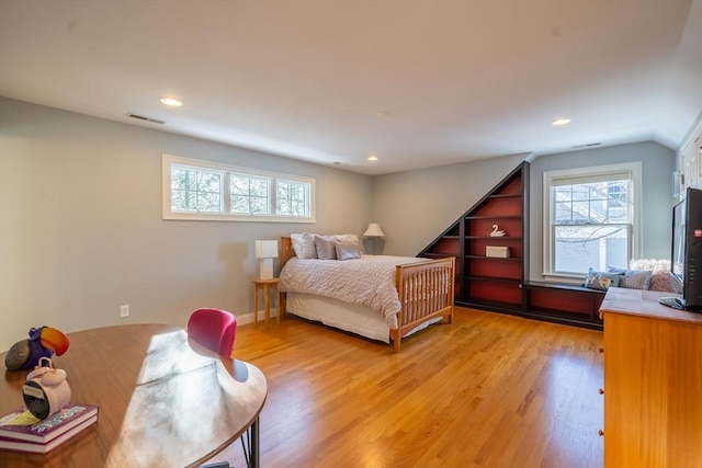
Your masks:
M641 258L642 251L642 232L643 232L643 190L642 190L642 163L627 162L622 164L609 164L597 165L592 168L580 169L562 169L556 171L545 171L543 173L543 231L544 231L544 244L543 244L543 278L547 282L561 282L561 283L582 283L581 275L564 275L563 273L555 273L553 271L553 229L551 229L551 186L554 179L568 178L581 178L581 176L597 176L605 175L612 172L627 172L634 185L634 209L632 212L632 244L631 255L632 259Z

